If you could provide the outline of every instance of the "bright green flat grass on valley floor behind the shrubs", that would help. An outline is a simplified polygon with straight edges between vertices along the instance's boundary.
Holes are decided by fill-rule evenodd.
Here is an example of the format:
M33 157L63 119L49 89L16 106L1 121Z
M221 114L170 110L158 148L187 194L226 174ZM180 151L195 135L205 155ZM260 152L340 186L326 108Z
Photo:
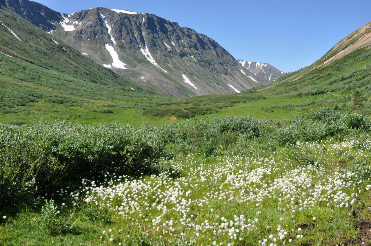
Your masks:
M218 96L220 97L220 96ZM195 97L194 99L205 99L205 97ZM332 102L332 100L341 100L337 97L331 95L323 96L312 96L312 97L284 97L284 98L265 98L258 100L246 100L246 102L239 102L233 104L233 106L223 106L221 109L217 109L216 112L208 113L206 115L198 115L198 118L222 118L224 116L248 116L252 115L258 119L273 118L273 119L292 119L311 109L313 106L323 107ZM155 101L155 100L154 100ZM191 99L187 105L192 105L194 102ZM206 97L207 103L207 97ZM211 100L210 100L211 101ZM313 104L305 104L306 102ZM172 104L177 103L173 99ZM212 105L213 103L210 102ZM83 103L76 103L75 106L66 106L63 104L53 104L44 101L36 103L27 103L27 107L16 106L18 109L27 108L29 111L27 113L8 113L0 115L0 120L3 122L8 122L9 120L40 120L41 118L51 122L55 119L58 120L68 120L70 122L84 122L84 123L99 123L104 122L117 122L117 123L129 123L133 126L139 126L143 122L149 124L160 126L162 124L171 123L168 115L165 117L152 117L145 116L143 110L140 107L148 108L148 104L138 104L133 105L129 102L99 102L99 101L87 101ZM123 105L124 108L121 107ZM129 109L125 109L125 105L132 105ZM180 104L182 105L182 104ZM102 114L99 110L102 108L110 107L113 113ZM270 106L279 106L282 108L266 110ZM182 106L180 106L182 107ZM187 106L186 106L187 107ZM156 107L154 107L156 110ZM177 117L177 116L175 116ZM178 118L177 122L184 122L185 119Z

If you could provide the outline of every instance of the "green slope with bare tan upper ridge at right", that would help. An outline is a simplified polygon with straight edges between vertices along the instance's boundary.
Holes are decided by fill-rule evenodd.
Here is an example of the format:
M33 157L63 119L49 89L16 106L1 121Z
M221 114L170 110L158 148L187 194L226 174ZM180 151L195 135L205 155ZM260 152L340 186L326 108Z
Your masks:
M371 22L340 40L308 67L257 90L290 96L328 93L336 98L357 89L371 96Z

